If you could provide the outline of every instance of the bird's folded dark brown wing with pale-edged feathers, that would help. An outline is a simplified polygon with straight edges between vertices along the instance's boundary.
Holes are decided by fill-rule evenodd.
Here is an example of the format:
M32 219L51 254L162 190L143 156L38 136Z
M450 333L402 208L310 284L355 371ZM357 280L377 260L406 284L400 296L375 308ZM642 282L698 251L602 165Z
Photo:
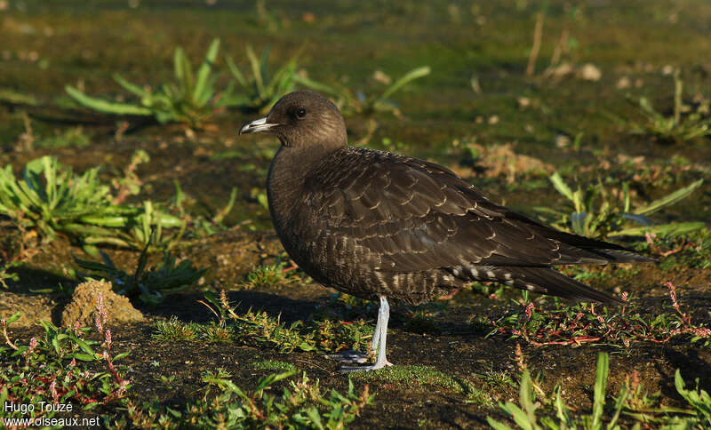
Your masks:
M324 231L378 255L378 270L604 264L627 255L491 203L435 163L356 148L332 162L344 168L313 171L299 204L313 209Z

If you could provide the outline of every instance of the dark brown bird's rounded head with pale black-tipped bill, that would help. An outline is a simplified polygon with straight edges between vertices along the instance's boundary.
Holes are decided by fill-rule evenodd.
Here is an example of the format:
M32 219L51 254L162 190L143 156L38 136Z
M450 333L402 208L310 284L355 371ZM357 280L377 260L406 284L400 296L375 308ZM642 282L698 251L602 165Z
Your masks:
M245 123L244 133L275 135L284 147L342 147L348 144L346 123L339 108L321 94L290 92L264 118Z

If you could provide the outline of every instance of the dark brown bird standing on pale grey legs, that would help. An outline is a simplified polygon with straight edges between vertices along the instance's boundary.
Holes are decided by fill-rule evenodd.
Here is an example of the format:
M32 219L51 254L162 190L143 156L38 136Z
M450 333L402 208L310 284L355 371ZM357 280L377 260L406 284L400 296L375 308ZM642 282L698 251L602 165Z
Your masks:
M622 303L553 268L651 261L614 243L546 227L492 203L435 163L348 146L336 106L316 92L285 95L243 133L282 143L267 195L276 233L316 282L379 299L370 366L385 354L387 299L418 304L471 281L493 281L571 299Z

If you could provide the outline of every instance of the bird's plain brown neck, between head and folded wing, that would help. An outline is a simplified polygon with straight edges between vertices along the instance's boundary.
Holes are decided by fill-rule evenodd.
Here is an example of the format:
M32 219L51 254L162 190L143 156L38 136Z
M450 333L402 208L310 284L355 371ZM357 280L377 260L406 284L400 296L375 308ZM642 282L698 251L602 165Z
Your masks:
M309 171L339 148L342 147L279 147L276 151L267 175L267 198L277 233L297 209L294 205Z

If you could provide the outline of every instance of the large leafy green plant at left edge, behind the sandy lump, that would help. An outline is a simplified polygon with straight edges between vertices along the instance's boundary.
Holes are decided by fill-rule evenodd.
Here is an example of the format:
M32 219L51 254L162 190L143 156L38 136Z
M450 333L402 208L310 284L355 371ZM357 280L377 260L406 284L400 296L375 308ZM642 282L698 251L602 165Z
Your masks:
M139 207L116 203L118 196L137 194L139 189L124 191L126 183L119 181L115 196L98 175L99 168L75 175L48 155L27 163L21 179L15 178L12 165L7 164L0 169L0 215L9 217L23 232L36 230L45 241L68 235L93 254L97 244L142 249L152 236L154 247L169 247L180 238L185 222L150 201ZM180 232L163 234L172 227L180 227Z

